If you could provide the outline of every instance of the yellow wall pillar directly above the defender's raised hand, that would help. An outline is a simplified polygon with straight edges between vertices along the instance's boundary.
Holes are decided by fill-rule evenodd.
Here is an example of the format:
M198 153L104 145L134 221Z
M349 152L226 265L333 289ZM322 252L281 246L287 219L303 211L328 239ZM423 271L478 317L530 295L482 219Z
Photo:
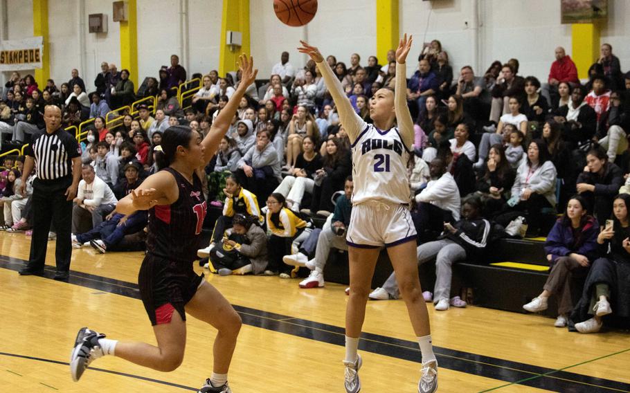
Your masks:
M250 54L249 48L249 0L223 0L221 36L219 37L219 75L238 69L237 59L241 53ZM231 48L226 45L226 33L240 31L242 46Z

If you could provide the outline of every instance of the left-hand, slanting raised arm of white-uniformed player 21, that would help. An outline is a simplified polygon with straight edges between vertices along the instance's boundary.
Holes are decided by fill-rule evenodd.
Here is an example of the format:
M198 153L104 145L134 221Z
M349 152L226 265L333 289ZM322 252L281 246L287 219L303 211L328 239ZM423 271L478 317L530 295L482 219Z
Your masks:
M337 77L334 75L332 68L330 68L328 63L324 61L324 57L319 52L319 49L315 46L310 46L303 41L300 41L300 44L302 44L302 46L298 48L298 51L309 55L317 65L317 68L319 68L319 71L324 78L326 87L328 88L328 91L330 91L332 100L334 100L334 104L337 107L341 125L343 125L345 131L348 132L350 143L354 143L354 140L357 139L361 131L363 131L363 128L366 127L366 122L364 122L363 119L357 115L357 112L354 111L354 108L352 108L350 100L348 100L348 97L346 97L345 92L343 91L343 87L341 87L341 82L339 82Z

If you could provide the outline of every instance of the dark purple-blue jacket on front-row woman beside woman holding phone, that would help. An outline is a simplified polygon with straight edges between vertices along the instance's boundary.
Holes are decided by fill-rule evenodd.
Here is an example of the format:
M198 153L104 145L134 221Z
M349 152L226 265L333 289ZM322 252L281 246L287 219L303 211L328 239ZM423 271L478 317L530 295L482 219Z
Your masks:
M559 219L547 235L545 254L552 255L552 262L570 253L584 255L592 262L597 257L597 235L599 233L600 225L597 220L588 217L577 244L574 245L575 241L570 223L566 223L564 219Z

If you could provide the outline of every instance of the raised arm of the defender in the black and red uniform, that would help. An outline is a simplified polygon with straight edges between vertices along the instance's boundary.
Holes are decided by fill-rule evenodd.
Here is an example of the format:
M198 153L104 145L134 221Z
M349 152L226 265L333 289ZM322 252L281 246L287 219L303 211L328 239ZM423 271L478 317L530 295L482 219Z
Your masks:
M206 165L208 165L210 158L212 158L213 154L217 151L221 138L223 138L230 128L234 113L236 113L238 109L238 103L241 101L241 98L243 98L243 95L245 95L247 87L256 80L256 75L258 74L258 69L254 68L254 59L251 56L247 57L245 54L240 55L238 57L238 67L241 70L241 80L238 84L238 88L213 121L213 125L210 127L206 138L201 141L201 145L204 145L207 152L205 156Z

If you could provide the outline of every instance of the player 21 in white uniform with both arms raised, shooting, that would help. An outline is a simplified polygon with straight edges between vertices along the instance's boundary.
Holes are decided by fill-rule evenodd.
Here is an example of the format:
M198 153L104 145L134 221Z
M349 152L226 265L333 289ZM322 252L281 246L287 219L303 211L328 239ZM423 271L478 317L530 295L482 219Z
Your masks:
M422 352L422 376L418 392L438 389L438 362L431 345L429 314L422 298L416 257L416 232L409 213L406 164L413 145L413 121L406 102L405 60L411 49L405 35L396 50L396 89L379 89L370 102L373 125L361 120L324 61L318 48L301 42L321 71L339 112L341 125L352 143L352 216L347 242L350 259L350 299L345 312L345 390L361 390L357 353L366 315L366 302L380 248L386 247L399 280L411 325ZM398 127L394 127L397 122Z

